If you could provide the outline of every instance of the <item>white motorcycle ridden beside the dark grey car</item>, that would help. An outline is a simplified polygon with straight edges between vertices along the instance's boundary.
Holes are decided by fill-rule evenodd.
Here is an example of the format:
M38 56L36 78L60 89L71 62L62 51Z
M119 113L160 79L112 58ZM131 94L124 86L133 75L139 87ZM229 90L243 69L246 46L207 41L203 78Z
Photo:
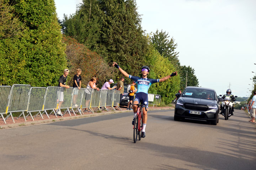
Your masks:
M220 95L222 96L222 95ZM235 96L237 97L237 96ZM228 118L232 115L232 107L233 107L233 101L236 99L231 97L231 95L227 96L225 95L224 101L221 104L222 108L222 115L225 117L225 120L228 120Z

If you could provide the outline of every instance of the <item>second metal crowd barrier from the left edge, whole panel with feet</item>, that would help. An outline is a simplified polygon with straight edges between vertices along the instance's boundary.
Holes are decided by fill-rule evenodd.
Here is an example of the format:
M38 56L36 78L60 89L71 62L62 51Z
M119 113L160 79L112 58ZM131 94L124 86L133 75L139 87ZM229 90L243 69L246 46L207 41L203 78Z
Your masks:
M27 121L26 117L25 117L25 114L24 114L24 111L27 111L29 91L30 91L30 85L24 85L24 84L14 84L14 85L12 85L12 88L11 88L11 91L10 91L10 98L9 98L9 101L8 101L9 115L7 115L5 120L9 116L11 116L12 121L15 123L14 118L12 117L12 113L13 112L22 112L20 114L20 116L23 115L25 121ZM18 118L20 118L20 116Z

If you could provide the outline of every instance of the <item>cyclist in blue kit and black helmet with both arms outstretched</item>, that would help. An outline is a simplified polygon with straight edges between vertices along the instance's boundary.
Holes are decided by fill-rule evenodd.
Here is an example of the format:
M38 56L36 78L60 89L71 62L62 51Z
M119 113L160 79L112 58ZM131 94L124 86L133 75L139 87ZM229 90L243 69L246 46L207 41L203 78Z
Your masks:
M142 77L135 77L132 75L129 75L128 73L126 73L122 68L120 68L118 66L118 64L116 62L113 62L113 66L118 68L119 71L126 77L133 79L136 83L137 83L137 93L136 93L136 97L134 99L133 104L139 104L140 102L142 104L145 104L146 107L148 108L148 90L151 84L153 83L158 83L158 82L162 82L165 81L175 75L177 75L177 72L173 72L171 75L167 75L166 77L163 77L161 79L148 79L147 76L150 72L150 69L148 66L143 66L142 67ZM137 105L133 105L133 113L134 113L134 118L137 114ZM134 118L132 121L132 124L134 125ZM145 129L146 129L146 122L148 119L148 115L147 112L145 111L145 107L143 106L143 128L142 128L142 137L145 137Z

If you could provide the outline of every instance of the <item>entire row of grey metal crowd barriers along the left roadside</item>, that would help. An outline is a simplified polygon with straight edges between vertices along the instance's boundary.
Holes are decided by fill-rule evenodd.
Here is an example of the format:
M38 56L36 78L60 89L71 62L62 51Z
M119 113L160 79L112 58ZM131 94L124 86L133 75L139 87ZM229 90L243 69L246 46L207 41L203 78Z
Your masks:
M155 94L149 94L149 104L160 105L161 96ZM38 112L43 119L43 114L45 113L49 119L48 114L54 113L57 117L57 111L62 115L60 109L66 109L66 112L70 114L70 111L82 112L82 108L89 108L92 113L94 113L92 108L97 108L99 110L104 107L107 111L107 106L115 110L114 107L119 107L120 102L120 91L117 90L100 90L96 89L78 89L70 87L65 89L64 87L31 87L30 85L18 85L14 84L11 86L0 86L0 118L4 120L6 124L6 119L11 116L12 121L15 123L12 113L21 112L18 118L23 115L25 121L30 115L32 120L31 112ZM74 111L73 108L76 108ZM28 114L25 117L25 113ZM48 113L47 113L48 111ZM50 113L49 113L50 112ZM3 114L8 114L4 118ZM18 119L17 118L17 119Z

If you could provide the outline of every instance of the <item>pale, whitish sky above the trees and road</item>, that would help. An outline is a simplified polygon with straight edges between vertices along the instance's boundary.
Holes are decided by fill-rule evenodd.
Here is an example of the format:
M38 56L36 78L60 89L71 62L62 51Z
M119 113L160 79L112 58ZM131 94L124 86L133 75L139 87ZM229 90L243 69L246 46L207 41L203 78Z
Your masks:
M59 19L82 0L55 0ZM195 70L199 86L217 95L231 89L248 97L256 75L255 0L137 0L142 29L165 31L177 43L181 65ZM255 73L252 73L255 72Z

